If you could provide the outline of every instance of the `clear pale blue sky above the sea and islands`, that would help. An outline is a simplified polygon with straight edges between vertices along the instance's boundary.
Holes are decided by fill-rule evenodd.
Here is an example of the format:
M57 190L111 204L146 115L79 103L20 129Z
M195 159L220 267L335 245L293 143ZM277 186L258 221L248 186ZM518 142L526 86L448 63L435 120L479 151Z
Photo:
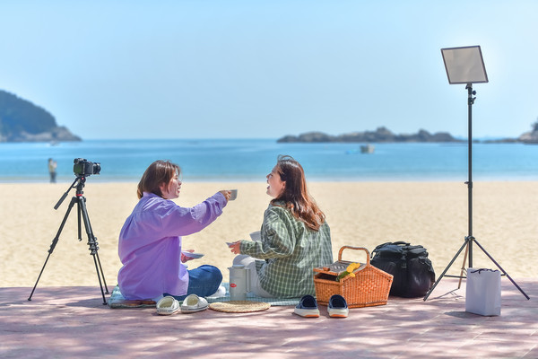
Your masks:
M480 45L473 137L538 118L538 2L0 4L0 89L93 138L278 138L385 126L467 136L440 48Z

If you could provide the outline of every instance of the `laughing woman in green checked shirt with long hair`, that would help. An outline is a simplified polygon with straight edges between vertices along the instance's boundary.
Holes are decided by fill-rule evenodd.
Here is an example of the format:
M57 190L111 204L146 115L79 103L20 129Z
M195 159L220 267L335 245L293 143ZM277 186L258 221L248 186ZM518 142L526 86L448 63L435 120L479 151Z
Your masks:
M267 176L261 241L236 241L233 264L250 268L250 289L258 296L295 298L315 295L314 267L333 263L331 232L325 215L308 194L305 173L291 156L280 155Z

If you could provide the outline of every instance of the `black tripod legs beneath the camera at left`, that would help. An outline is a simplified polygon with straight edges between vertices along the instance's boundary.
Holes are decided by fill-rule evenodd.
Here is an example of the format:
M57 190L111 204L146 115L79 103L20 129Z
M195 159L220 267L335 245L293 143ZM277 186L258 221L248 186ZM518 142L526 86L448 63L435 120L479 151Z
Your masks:
M67 212L65 212L64 220L62 221L62 224L60 224L60 228L58 229L58 232L56 232L56 237L54 237L54 240L52 240L52 244L50 245L50 249L48 250L48 256L47 259L45 259L45 263L43 264L43 267L41 268L41 272L39 273L38 280L36 281L36 284L34 285L30 297L28 298L29 301L31 301L31 296L33 295L34 291L36 290L36 287L38 286L39 278L43 274L43 270L45 269L45 266L47 266L48 258L54 251L56 247L56 243L58 242L60 238L60 233L64 229L65 221L67 221L67 217L69 216L69 213L71 212L71 209L73 208L74 204L77 205L78 210L78 239L79 241L82 241L82 232L81 232L81 215L82 219L84 221L84 227L86 229L86 233L88 234L88 246L90 247L90 254L93 256L93 263L95 263L95 270L97 271L97 277L99 278L99 285L101 294L103 296L103 304L107 304L107 300L105 299L105 292L103 291L103 284L105 285L106 293L108 294L108 288L107 288L107 282L105 281L105 275L103 274L103 269L100 265L100 258L99 253L97 252L99 250L97 238L93 235L93 232L91 231L91 224L90 224L90 217L88 216L88 210L86 209L86 198L82 196L82 188L84 188L84 183L86 182L86 178L83 175L77 175L74 182L71 184L71 186L65 191L64 195L60 198L60 200L56 203L56 206L54 206L54 209L58 209L58 207L64 202L65 197L67 197L67 194L71 190L71 188L76 188L76 195L71 198L71 202L69 203L69 206L67 207ZM102 277L102 282L101 282Z

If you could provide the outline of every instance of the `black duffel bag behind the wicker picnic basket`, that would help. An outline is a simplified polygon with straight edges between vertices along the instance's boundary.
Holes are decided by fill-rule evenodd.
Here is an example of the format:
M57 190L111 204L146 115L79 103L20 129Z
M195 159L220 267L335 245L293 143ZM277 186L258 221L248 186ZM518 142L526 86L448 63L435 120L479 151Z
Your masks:
M428 251L422 246L404 241L380 244L372 251L370 264L394 276L390 295L420 297L435 283Z

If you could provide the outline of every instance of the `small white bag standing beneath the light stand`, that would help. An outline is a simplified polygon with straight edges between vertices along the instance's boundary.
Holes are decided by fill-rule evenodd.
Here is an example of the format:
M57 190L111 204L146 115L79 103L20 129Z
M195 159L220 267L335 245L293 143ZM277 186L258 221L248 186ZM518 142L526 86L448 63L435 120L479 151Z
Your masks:
M500 315L500 272L484 268L467 269L465 311Z

